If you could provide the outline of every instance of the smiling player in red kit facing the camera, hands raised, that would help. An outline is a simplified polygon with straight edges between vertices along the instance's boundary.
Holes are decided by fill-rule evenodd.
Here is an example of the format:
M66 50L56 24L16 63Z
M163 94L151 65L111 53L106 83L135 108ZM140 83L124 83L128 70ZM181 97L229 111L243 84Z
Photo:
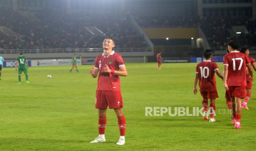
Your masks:
M99 109L99 136L91 143L105 142L105 126L107 107L114 109L118 118L120 137L116 144L125 143L126 118L123 114L123 100L120 90L119 76L127 76L126 66L121 55L115 53L112 48L115 42L111 37L107 37L103 42L103 54L95 59L95 65L90 70L93 78L99 73L95 108Z

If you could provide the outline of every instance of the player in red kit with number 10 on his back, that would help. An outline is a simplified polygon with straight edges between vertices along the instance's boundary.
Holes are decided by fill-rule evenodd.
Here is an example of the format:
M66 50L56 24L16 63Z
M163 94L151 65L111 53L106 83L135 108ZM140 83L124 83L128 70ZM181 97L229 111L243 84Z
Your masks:
M208 99L210 100L210 109L216 110L215 99L218 98L218 93L216 89L216 79L215 73L223 79L223 75L220 73L219 68L216 63L211 62L213 54L211 50L206 50L204 52L205 60L198 63L195 71L195 81L194 81L194 94L197 94L197 83L199 80L199 87L201 96L203 97L203 107L204 107L204 120L208 120ZM210 122L216 121L214 118L213 111L210 112Z

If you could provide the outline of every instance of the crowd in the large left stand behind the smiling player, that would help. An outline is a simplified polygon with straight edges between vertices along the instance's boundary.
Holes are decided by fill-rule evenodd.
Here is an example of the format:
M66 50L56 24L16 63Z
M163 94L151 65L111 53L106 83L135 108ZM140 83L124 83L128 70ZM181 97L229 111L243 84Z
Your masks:
M7 8L1 8L0 14L0 26L17 33L0 33L0 49L101 48L105 37L113 37L117 48L146 47L144 38L125 18L40 11L31 19ZM86 29L90 26L102 34L90 33Z

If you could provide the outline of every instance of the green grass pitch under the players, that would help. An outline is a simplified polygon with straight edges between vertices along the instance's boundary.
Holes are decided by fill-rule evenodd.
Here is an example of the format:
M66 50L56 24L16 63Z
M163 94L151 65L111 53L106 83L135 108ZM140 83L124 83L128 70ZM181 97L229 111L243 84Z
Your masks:
M97 79L90 66L69 73L69 66L31 67L31 84L18 84L14 68L3 68L0 81L0 150L255 150L256 89L249 111L243 111L241 130L233 129L230 114L216 122L202 117L145 117L145 107L201 107L193 94L195 63L128 63L121 78L126 144L117 146L115 112L108 110L106 143L91 144L97 133ZM221 72L222 65L219 64ZM48 79L47 74L52 78ZM216 77L217 78L217 77ZM224 87L217 78L218 109L226 109ZM226 109L227 111L227 109Z

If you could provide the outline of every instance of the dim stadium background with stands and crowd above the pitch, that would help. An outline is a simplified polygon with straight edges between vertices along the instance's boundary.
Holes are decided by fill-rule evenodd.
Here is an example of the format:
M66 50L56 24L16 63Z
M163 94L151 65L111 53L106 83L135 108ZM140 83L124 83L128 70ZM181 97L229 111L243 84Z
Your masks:
M1 0L0 55L88 61L112 37L126 62L155 62L159 52L190 62L205 49L222 57L230 39L255 57L255 19L252 0Z

